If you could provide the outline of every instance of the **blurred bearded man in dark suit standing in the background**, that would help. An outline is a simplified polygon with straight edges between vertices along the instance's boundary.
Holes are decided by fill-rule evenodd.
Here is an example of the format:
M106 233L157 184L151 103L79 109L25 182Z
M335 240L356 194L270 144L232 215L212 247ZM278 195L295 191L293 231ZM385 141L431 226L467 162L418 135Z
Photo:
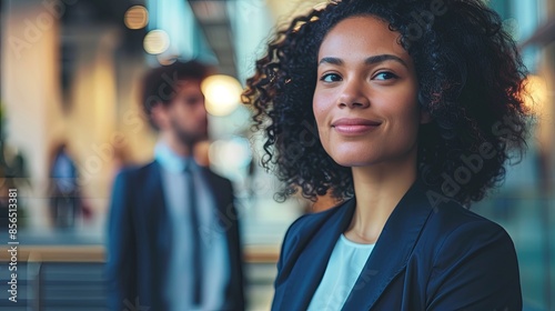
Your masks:
M160 138L153 162L114 181L110 310L244 310L231 183L192 157L208 136L200 88L206 72L190 61L145 76L143 108Z

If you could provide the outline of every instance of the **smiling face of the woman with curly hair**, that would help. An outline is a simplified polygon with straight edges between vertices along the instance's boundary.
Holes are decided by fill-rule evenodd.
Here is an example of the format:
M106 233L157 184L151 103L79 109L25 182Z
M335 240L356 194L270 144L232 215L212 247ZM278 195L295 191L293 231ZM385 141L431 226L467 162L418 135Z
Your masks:
M373 17L339 22L319 51L313 110L325 151L341 165L416 160L417 80L398 32Z

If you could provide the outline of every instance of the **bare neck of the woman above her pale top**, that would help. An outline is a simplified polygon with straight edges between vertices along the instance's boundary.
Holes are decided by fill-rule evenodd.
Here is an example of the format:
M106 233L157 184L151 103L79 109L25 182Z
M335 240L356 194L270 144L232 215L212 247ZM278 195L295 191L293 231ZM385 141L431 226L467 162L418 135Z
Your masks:
M416 160L352 170L356 208L345 235L354 242L375 243L398 201L416 180Z

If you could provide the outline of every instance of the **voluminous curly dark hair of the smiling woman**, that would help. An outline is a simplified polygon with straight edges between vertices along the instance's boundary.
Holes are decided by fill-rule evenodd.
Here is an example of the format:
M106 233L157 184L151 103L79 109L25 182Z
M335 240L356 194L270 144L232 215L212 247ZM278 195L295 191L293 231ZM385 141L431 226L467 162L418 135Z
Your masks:
M353 195L351 169L317 138L312 97L325 34L357 16L387 22L413 58L418 104L433 120L418 131L418 177L462 204L483 199L503 181L513 151L525 151L529 111L515 42L480 0L343 0L279 30L243 93L265 133L262 164L284 182L279 198Z

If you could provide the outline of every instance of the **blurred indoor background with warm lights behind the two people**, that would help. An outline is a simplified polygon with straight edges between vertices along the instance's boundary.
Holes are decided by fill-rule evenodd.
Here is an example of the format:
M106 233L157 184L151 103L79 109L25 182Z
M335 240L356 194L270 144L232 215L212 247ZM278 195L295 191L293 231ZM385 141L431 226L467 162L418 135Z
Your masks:
M538 118L525 158L473 210L513 238L525 310L555 310L555 0L487 2L519 42ZM140 79L149 68L176 58L203 60L224 74L206 86L211 141L199 152L234 183L249 309L269 310L286 228L302 213L321 209L325 199L316 205L301 198L273 199L279 183L259 167L260 138L250 131L250 111L239 94L275 26L320 4L2 0L0 197L18 189L20 308L8 301L3 222L0 310L104 310L103 243L112 179L123 165L149 161L155 143L139 104ZM73 163L69 173L78 178L79 199L78 208L53 212L53 189L61 179L53 178L52 169L60 152Z

